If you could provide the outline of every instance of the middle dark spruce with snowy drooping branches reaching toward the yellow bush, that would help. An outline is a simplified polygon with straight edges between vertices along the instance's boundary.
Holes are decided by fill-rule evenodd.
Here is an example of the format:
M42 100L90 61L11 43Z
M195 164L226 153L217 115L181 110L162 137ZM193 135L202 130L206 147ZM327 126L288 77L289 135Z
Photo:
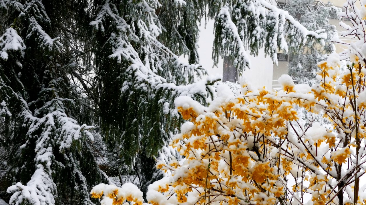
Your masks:
M182 63L158 40L162 29L155 11L158 5L158 1L101 1L91 22L102 135L119 159L113 166L138 177L141 189L152 177L153 156L182 122L173 113L174 98L183 94L204 103L213 96L207 86L214 81L193 84L205 70Z

